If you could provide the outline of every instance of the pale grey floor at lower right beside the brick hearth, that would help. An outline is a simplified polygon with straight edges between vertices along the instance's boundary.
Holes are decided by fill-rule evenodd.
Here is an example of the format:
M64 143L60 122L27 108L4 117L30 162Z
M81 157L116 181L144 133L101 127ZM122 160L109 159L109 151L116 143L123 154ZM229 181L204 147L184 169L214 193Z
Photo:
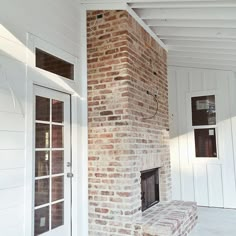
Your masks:
M236 210L199 207L198 217L189 236L236 236Z

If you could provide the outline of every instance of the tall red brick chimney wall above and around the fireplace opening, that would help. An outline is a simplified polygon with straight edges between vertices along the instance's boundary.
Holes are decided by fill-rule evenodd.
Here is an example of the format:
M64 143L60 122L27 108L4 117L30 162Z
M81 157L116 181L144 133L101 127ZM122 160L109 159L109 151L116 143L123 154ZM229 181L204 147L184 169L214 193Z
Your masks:
M171 181L166 52L125 11L88 13L88 99L90 235L132 235L140 171L161 167L162 200Z

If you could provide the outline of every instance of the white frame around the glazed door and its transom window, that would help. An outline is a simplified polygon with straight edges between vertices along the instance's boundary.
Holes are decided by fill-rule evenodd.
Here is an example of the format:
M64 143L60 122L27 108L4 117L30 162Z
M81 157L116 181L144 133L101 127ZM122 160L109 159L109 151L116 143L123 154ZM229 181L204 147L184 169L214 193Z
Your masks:
M35 49L45 50L74 65L75 78L73 81L61 76L43 71L35 67ZM86 236L88 229L88 131L87 131L87 77L83 80L79 73L78 59L43 41L27 34L27 67L26 67L26 152L25 152L25 236L33 236L33 101L34 85L67 93L71 96L71 158L73 162L72 173L72 224L71 235ZM84 75L85 76L85 75ZM83 220L81 220L83 219ZM29 223L30 222L30 223Z

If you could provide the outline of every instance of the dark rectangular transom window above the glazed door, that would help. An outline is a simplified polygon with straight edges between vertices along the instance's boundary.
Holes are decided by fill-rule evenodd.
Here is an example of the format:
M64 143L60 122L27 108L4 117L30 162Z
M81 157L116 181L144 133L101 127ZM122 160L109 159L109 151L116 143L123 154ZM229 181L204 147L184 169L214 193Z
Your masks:
M63 76L67 79L74 79L73 64L38 48L36 48L36 67Z

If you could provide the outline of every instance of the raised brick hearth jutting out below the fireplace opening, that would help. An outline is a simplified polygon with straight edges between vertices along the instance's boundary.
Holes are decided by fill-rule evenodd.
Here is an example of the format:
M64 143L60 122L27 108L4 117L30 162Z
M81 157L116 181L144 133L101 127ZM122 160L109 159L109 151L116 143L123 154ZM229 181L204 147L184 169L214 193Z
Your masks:
M136 236L186 236L197 223L194 202L159 203L146 210L137 221Z

